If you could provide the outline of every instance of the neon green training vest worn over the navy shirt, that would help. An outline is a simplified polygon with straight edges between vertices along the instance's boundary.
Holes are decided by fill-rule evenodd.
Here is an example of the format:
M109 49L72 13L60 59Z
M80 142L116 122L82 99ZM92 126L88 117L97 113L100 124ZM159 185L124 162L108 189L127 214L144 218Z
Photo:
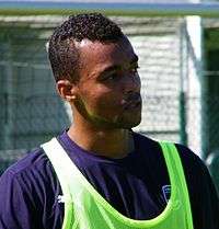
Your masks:
M180 156L173 144L160 142L171 182L165 209L155 218L136 220L118 213L88 182L56 138L43 145L61 185L62 229L193 229L193 217ZM146 203L147 204L147 203Z

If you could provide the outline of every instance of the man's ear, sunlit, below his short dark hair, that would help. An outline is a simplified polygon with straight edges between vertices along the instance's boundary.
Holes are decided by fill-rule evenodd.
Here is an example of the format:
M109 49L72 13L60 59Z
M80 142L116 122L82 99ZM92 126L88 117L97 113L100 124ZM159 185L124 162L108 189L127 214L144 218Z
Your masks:
M77 99L77 85L69 80L57 81L56 89L59 95L68 102L72 102Z

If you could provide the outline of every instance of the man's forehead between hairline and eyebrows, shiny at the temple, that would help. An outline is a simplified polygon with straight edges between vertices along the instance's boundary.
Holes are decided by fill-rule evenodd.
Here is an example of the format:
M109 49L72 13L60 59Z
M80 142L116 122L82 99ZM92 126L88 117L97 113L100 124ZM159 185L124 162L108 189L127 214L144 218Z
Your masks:
M132 46L126 37L116 43L106 44L83 39L77 46L83 69L90 71L113 65L128 65L136 57Z

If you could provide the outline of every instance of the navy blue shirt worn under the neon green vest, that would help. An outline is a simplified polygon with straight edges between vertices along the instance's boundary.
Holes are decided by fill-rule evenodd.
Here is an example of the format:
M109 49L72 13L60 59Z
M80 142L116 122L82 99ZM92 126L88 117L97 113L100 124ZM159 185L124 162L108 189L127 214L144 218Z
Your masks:
M132 135L135 151L123 159L88 152L66 131L58 140L89 182L118 211L134 219L150 219L166 206L168 170L159 144ZM219 229L219 201L206 167L189 149L176 147L185 170L194 229ZM30 152L0 179L0 229L60 229L64 204L58 202L59 195L59 181L43 149Z

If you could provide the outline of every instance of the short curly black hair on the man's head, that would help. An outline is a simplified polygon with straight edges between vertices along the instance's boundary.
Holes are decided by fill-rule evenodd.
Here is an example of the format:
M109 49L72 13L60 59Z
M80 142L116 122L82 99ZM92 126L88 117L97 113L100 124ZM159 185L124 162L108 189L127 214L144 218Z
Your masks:
M120 27L101 13L70 15L51 35L48 57L55 80L79 79L80 50L74 42L88 38L92 42L116 43L124 36Z

